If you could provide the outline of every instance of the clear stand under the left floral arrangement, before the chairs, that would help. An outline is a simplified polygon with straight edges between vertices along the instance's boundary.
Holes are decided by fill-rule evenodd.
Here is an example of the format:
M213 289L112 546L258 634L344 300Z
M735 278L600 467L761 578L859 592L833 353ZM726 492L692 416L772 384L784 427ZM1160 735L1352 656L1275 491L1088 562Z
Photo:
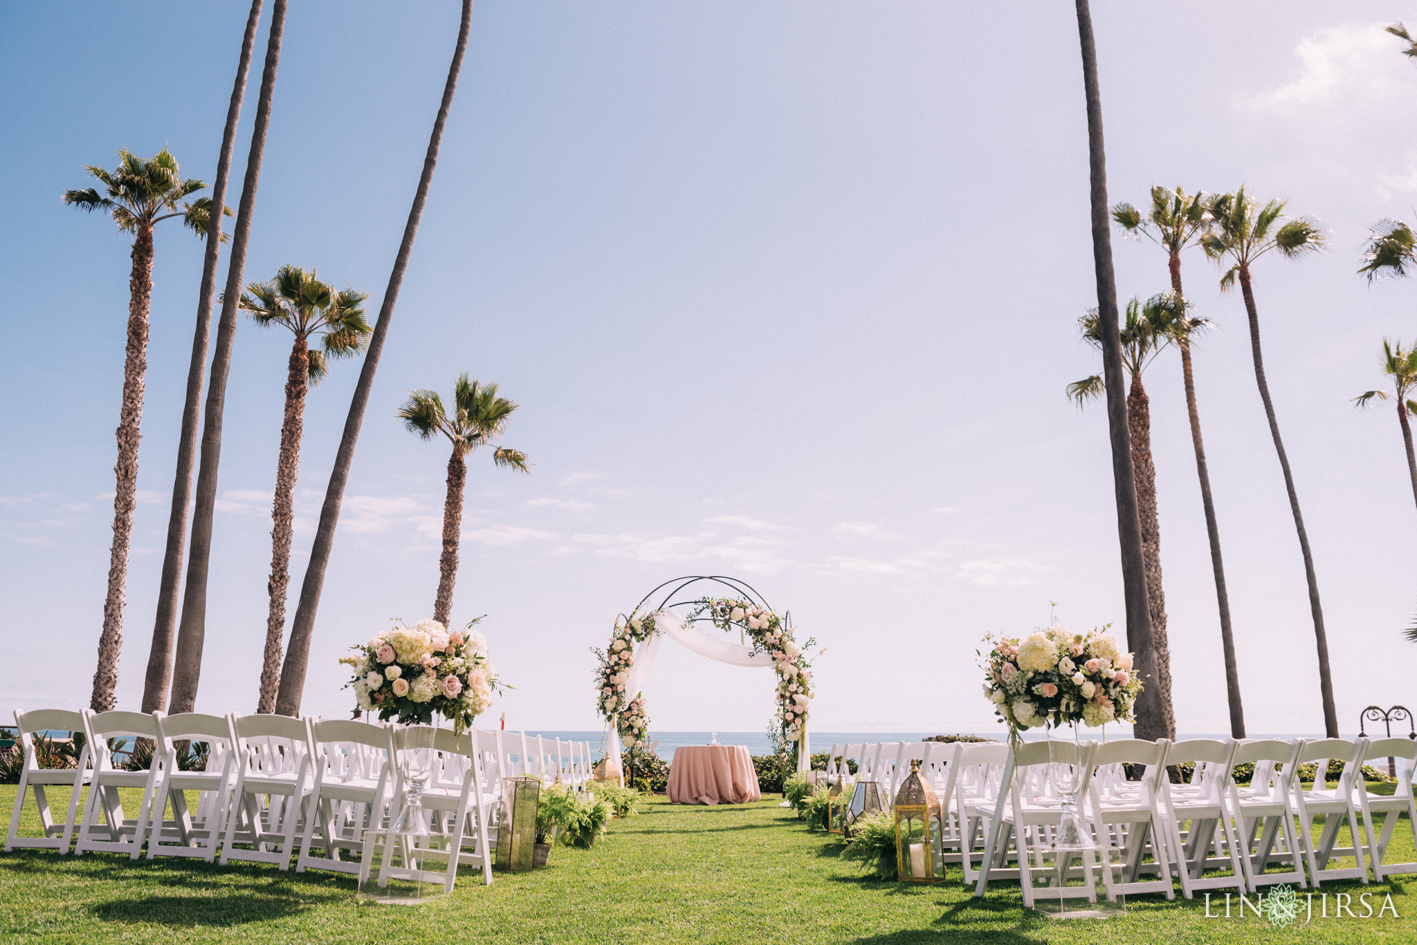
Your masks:
M422 793L432 774L436 730L410 725L394 732L398 781L387 826L377 822L364 833L359 902L421 905L448 893L448 853L435 849L445 839L428 829ZM428 861L431 860L431 863ZM427 868L436 866L441 868Z

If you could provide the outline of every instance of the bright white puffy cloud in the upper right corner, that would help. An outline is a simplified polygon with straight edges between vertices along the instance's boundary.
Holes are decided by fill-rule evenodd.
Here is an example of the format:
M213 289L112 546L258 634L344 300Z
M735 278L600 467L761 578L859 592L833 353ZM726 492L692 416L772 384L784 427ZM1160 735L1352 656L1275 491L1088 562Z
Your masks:
M1384 23L1345 23L1318 30L1294 47L1298 74L1288 82L1237 99L1253 112L1309 109L1326 103L1377 105L1399 89L1410 95L1417 75L1401 55L1401 41Z

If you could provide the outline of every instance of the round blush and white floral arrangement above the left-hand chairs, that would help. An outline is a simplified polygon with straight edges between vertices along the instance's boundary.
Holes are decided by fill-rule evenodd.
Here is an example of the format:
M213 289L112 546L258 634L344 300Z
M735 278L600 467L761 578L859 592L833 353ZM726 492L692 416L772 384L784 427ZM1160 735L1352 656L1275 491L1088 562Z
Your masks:
M346 689L354 690L363 711L384 721L428 725L436 713L462 734L502 689L487 640L473 629L480 619L452 632L438 621L419 621L376 633L340 657L354 670Z

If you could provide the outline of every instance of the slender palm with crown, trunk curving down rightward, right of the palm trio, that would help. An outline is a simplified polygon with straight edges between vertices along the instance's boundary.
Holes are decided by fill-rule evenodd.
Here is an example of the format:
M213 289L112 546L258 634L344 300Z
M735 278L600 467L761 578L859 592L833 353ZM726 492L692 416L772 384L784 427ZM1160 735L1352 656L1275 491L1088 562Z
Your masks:
M1250 354L1254 360L1254 380L1260 388L1260 400L1264 401L1264 414L1270 421L1274 452L1280 458L1280 469L1284 470L1284 486L1289 494L1289 510L1294 513L1294 528L1299 537L1299 553L1304 555L1304 577L1309 585L1309 612L1314 616L1314 636L1319 653L1323 728L1329 738L1338 738L1338 711L1333 706L1333 679L1329 673L1328 633L1323 630L1319 582L1314 575L1314 554L1309 551L1309 536L1304 528L1304 513L1299 511L1299 494L1294 487L1289 458L1285 455L1284 441L1280 438L1274 400L1270 397L1270 384L1264 378L1264 356L1260 350L1260 312L1254 305L1254 288L1250 281L1250 268L1270 251L1278 251L1294 259L1318 252L1325 244L1323 231L1306 217L1297 217L1281 224L1284 207L1285 201L1282 200L1271 200L1261 207L1258 201L1244 193L1244 187L1238 193L1216 197L1212 204L1214 227L1202 237L1200 245L1212 259L1230 261L1230 268L1220 278L1221 290L1229 292L1238 282L1240 293L1244 296L1246 315L1250 317Z

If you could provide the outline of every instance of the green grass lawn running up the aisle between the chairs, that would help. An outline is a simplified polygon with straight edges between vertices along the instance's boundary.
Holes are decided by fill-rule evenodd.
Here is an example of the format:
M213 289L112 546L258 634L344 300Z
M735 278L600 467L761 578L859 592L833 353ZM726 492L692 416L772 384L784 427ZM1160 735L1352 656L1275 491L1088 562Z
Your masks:
M0 810L14 791L0 786ZM490 887L468 870L449 900L417 910L356 907L351 877L319 871L16 850L0 853L0 941L1417 942L1417 876L1366 887L1374 910L1391 893L1399 919L1315 918L1281 931L1254 915L1207 919L1203 901L1178 891L1175 902L1129 897L1125 918L1057 922L1026 911L1016 883L975 900L952 868L944 885L904 887L863 877L836 849L775 798L723 808L656 798L591 850L557 847L550 867L496 873ZM1406 822L1393 851L1417 859ZM1365 891L1356 881L1323 888ZM1223 897L1212 911L1223 915Z

